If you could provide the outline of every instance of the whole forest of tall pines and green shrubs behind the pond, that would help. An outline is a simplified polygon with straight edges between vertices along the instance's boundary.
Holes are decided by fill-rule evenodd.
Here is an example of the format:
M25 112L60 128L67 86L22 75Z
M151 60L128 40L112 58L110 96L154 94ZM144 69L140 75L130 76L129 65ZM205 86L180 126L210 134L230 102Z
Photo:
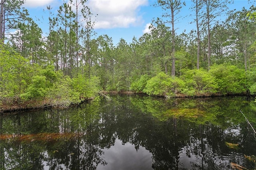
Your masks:
M150 33L114 45L108 35L97 36L86 1L63 3L58 14L47 6L45 37L22 7L24 0L1 0L0 112L68 107L109 92L167 98L256 94L253 5L230 11L232 1L191 0L196 29L178 35L185 1L157 0L163 15L152 18Z

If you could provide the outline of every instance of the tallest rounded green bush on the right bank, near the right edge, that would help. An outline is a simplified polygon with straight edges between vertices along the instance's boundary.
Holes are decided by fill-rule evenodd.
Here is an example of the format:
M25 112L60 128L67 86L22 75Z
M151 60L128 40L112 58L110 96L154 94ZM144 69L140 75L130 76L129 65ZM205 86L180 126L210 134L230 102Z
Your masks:
M241 94L246 92L246 75L243 69L234 65L213 65L210 73L215 77L218 91L223 94Z

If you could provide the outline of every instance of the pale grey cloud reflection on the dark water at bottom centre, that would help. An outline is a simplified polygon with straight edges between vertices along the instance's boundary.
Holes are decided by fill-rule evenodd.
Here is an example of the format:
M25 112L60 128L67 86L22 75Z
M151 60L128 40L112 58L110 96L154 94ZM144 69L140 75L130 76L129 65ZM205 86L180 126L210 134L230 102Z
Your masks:
M134 145L116 139L115 145L104 149L101 156L108 164L99 164L97 170L150 170L152 168L152 154L140 146L136 151Z

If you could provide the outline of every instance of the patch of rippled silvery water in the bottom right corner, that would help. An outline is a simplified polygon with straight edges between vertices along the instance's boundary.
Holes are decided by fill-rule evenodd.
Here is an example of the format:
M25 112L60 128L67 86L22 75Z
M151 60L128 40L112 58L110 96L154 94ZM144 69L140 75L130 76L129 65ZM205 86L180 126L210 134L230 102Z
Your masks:
M246 159L243 154L212 153L208 150L202 152L201 148L196 145L181 148L177 162L179 169L243 170L255 168L254 162Z

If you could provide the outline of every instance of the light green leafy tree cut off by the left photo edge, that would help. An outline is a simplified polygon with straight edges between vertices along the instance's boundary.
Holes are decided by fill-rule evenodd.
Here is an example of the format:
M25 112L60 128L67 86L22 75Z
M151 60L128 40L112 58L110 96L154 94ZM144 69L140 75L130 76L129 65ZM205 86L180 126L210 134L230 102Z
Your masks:
M0 44L0 100L15 99L23 93L32 69L29 60L16 53L10 45Z

